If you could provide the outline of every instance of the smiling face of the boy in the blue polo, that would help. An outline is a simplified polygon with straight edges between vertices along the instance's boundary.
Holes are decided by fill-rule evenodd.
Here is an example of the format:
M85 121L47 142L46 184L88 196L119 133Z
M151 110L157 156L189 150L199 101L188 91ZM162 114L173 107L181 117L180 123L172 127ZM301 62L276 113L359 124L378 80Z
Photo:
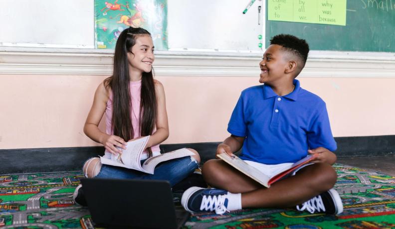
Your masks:
M261 69L259 83L275 86L287 80L284 75L288 67L288 58L281 48L280 45L272 44L266 49L259 63Z

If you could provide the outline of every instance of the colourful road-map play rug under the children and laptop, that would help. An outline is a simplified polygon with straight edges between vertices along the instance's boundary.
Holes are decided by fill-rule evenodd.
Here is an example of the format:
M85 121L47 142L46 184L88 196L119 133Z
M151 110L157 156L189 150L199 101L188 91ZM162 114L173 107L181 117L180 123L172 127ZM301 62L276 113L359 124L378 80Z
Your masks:
M395 177L342 165L335 168L339 176L335 188L344 203L339 216L247 209L222 216L193 215L186 228L395 228ZM81 177L80 172L0 175L0 229L93 228L88 210L72 200ZM176 193L177 204L179 200Z

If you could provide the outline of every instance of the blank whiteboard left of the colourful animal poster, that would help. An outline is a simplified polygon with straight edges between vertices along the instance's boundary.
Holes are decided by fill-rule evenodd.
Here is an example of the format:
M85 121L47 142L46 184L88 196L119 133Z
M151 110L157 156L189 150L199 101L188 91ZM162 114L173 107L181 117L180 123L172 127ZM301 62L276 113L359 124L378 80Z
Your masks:
M93 0L0 0L0 45L94 48Z

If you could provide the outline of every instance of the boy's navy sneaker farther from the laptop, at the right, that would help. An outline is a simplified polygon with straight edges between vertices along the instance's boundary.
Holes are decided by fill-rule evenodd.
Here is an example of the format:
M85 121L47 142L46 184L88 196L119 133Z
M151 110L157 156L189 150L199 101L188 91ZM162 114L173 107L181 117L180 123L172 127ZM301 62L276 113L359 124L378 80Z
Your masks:
M325 213L338 215L343 212L343 203L338 192L330 189L320 195L311 198L305 203L296 206L299 211L308 211L309 213Z

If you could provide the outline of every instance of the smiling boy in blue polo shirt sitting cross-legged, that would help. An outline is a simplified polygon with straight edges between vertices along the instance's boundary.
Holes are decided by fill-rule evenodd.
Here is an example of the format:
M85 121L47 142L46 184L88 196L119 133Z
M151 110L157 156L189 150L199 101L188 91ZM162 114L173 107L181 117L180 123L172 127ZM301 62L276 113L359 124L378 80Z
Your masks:
M218 145L216 154L233 155L242 147L240 158L266 174L308 153L318 154L314 164L265 188L226 162L209 160L202 174L215 189L189 188L181 202L186 210L223 214L241 208L296 206L310 213L343 211L340 196L332 189L337 179L332 151L337 146L325 102L295 80L308 52L306 41L292 35L270 40L259 63L259 82L264 85L241 93L227 128L231 135Z

